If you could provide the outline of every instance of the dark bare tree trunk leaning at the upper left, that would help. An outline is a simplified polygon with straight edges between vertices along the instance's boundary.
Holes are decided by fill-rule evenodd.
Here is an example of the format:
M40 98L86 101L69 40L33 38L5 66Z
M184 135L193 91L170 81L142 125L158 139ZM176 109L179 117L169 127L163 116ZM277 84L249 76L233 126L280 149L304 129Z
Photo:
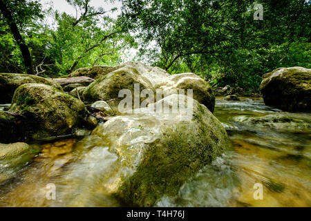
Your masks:
M32 75L35 73L32 63L32 58L29 52L29 48L26 44L26 42L23 40L23 37L21 37L21 33L19 32L19 28L17 28L17 24L13 20L13 17L6 7L6 4L3 2L3 0L0 0L0 10L3 14L3 17L6 19L6 22L8 23L8 26L10 27L10 30L12 32L12 35L14 36L15 40L17 41L17 44L19 46L19 49L21 50L21 55L23 56L23 61L26 66L27 73Z

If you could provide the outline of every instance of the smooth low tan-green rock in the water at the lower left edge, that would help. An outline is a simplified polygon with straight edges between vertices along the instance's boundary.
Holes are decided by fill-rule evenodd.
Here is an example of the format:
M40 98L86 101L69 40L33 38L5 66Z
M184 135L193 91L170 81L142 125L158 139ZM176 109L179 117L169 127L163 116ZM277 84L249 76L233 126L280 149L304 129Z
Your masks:
M26 143L0 144L0 183L15 177L39 151L39 146Z

